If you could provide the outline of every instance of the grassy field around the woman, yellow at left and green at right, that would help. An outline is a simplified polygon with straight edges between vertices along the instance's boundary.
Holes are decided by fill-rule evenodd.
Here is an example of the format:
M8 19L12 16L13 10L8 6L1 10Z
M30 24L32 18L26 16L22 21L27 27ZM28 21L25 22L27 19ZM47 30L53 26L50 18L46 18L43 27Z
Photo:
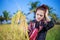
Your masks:
M11 28L10 24L0 25L0 40L21 40L18 28ZM55 25L47 32L46 40L60 40L60 25Z

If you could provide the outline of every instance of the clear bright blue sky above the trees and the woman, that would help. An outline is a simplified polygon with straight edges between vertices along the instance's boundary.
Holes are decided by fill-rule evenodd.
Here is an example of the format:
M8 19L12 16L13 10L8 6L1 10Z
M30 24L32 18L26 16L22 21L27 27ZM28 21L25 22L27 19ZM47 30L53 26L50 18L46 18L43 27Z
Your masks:
M3 15L3 11L7 10L10 15L16 13L17 10L23 11L27 14L29 12L30 2L35 2L37 0L0 0L0 15ZM53 7L54 12L60 17L60 0L38 0L40 5L46 4ZM33 19L33 14L28 15L28 18Z

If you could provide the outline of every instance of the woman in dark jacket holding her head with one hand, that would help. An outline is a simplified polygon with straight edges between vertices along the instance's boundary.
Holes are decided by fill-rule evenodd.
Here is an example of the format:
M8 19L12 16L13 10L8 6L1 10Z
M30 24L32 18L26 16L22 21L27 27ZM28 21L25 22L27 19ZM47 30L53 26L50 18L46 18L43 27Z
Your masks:
M48 7L37 7L35 19L29 24L29 40L45 40L47 31L54 26L54 21L48 17Z

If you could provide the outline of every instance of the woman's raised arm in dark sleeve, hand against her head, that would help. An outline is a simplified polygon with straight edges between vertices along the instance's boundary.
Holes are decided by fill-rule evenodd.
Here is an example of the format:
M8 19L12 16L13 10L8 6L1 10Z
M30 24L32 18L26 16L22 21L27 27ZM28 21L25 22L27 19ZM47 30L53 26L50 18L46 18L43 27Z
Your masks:
M53 19L49 18L49 16L48 16L48 10L46 11L45 17L46 17L46 22L47 22L45 29L49 30L50 28L52 28L54 26L55 21Z

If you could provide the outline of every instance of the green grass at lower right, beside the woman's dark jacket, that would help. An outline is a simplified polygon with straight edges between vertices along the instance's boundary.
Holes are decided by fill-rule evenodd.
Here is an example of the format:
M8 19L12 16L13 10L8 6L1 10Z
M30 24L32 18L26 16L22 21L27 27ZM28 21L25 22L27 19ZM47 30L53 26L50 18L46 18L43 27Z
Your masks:
M46 40L60 40L60 25L55 25L48 31Z

